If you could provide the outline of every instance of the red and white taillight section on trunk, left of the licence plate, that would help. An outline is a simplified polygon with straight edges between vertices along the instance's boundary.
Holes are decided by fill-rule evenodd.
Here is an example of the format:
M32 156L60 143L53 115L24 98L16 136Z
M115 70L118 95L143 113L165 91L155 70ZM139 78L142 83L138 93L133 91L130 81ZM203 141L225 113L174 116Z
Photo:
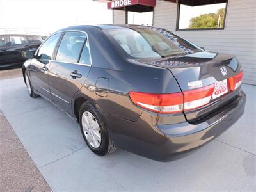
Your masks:
M183 92L184 111L200 108L205 104L208 104L211 101L213 91L214 84Z

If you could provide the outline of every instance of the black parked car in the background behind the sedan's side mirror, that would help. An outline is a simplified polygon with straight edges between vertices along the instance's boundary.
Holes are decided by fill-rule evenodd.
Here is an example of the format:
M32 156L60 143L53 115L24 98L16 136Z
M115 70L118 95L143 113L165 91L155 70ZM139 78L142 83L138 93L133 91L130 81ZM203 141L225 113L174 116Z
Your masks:
M0 35L0 69L21 67L25 61L21 52L36 51L42 42L42 38L36 35Z

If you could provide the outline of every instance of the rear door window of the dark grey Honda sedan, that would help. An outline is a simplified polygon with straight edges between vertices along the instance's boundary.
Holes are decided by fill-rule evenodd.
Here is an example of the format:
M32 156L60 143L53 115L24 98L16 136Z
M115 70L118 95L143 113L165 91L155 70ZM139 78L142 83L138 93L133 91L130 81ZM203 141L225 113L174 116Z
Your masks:
M66 32L61 40L56 60L77 63L85 40L84 33Z

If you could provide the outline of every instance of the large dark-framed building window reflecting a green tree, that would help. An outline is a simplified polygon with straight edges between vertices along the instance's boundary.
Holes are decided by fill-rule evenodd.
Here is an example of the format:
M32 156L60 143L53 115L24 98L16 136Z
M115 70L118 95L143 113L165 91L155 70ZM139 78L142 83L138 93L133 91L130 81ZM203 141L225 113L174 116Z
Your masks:
M177 30L224 29L228 0L179 0Z

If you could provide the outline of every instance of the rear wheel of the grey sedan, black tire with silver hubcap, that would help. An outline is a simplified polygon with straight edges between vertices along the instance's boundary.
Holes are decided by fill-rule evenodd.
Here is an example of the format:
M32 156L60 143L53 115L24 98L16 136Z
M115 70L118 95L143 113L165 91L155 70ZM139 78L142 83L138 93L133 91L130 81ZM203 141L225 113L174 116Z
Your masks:
M88 122L86 121L86 118L90 118L90 116L92 117L92 120L89 122L91 122L93 126L89 125L88 127L91 128L88 129L86 128L86 125L90 123L86 123ZM115 152L117 147L108 135L108 131L106 129L106 125L104 124L102 116L91 102L86 101L81 105L79 111L79 124L84 141L86 142L90 150L92 150L92 152L99 156L104 156L106 154L111 154L112 152ZM92 128L97 127L97 125L99 125L99 130L97 128ZM94 131L90 131L90 129ZM95 136L95 132L97 132L97 134L100 134L100 139L99 136ZM95 142L93 142L91 138L96 138L94 140Z

